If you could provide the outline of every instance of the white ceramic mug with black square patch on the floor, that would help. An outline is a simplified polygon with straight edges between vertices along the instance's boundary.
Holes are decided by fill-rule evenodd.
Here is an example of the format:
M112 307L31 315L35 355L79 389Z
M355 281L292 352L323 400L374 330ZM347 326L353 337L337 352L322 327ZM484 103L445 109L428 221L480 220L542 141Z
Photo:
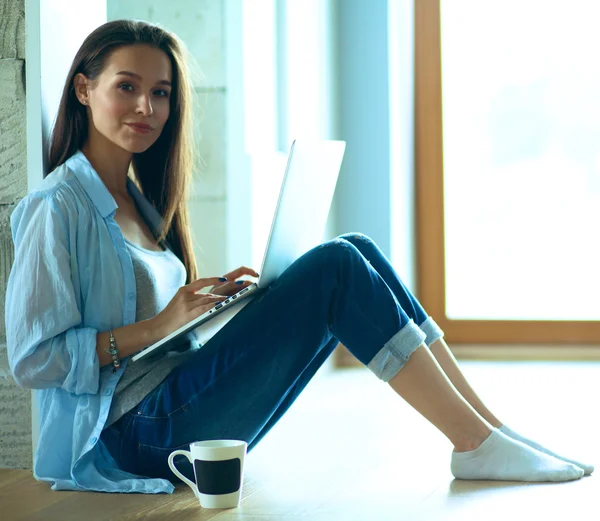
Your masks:
M203 508L235 508L240 504L244 458L248 444L241 440L207 440L190 443L190 450L169 454L169 467L196 494ZM173 458L181 454L194 467L196 483L177 470Z

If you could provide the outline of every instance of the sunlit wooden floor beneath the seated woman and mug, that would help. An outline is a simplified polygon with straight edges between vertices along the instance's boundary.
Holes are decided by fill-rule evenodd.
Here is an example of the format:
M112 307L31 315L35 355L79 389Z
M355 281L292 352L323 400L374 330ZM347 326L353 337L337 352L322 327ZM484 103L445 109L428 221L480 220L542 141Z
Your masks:
M461 362L496 415L557 452L600 464L599 362ZM133 519L600 520L600 476L560 484L454 480L452 446L365 369L318 374L247 457L241 506L173 495L51 492L0 470L3 521Z

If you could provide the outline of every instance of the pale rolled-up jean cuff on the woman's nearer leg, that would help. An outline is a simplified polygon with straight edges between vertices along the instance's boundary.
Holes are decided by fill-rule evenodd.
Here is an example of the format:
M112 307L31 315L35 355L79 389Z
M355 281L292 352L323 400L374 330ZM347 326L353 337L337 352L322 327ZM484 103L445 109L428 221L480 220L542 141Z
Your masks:
M367 367L377 378L389 382L404 367L410 355L423 344L425 338L425 333L411 320L385 343Z

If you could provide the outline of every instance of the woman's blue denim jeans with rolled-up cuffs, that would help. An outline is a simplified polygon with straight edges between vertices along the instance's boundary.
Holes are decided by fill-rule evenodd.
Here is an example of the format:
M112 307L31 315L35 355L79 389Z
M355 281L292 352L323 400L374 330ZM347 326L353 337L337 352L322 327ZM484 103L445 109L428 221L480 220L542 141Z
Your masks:
M123 470L176 482L173 450L220 438L252 450L338 342L388 381L442 335L377 245L343 235L294 262L101 439Z

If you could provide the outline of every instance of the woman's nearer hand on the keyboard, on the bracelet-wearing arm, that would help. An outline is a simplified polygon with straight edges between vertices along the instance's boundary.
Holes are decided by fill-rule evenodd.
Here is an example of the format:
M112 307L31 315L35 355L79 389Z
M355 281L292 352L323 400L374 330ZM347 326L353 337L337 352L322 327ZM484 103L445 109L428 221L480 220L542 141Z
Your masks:
M151 319L152 327L158 336L157 341L199 317L217 302L225 300L227 297L223 295L199 293L201 289L223 281L223 277L211 277L181 286L167 307Z

